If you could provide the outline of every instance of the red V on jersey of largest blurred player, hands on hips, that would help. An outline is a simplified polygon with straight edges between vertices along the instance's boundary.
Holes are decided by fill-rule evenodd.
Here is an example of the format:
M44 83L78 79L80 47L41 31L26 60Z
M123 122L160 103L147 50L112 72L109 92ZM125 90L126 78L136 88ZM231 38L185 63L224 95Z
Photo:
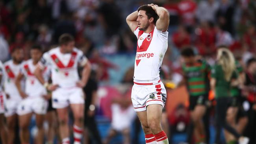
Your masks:
M71 57L70 57L70 59L69 59L69 63L68 63L67 66L64 66L64 65L63 65L63 63L59 60L59 58L57 57L56 54L51 55L51 57L52 57L52 60L54 61L54 63L56 63L56 65L57 65L59 68L70 68L70 67L72 67L72 66L74 65L76 55L77 55L76 52L72 52L72 53L71 53Z

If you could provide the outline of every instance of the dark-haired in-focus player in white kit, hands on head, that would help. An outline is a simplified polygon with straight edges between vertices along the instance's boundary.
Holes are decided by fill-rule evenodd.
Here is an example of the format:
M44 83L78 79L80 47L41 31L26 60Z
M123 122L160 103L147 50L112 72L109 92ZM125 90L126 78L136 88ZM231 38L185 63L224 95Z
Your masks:
M161 128L161 114L166 90L159 72L167 50L169 13L157 5L143 5L126 18L136 35L137 53L134 64L132 103L141 121L147 144L168 144Z

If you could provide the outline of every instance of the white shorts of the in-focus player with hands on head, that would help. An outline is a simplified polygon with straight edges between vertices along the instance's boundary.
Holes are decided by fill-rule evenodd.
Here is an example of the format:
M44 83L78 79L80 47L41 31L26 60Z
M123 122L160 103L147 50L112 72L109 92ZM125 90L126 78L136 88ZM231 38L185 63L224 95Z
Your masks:
M164 107L166 90L160 81L154 85L137 85L132 87L132 104L136 112L146 111L148 105L159 104Z

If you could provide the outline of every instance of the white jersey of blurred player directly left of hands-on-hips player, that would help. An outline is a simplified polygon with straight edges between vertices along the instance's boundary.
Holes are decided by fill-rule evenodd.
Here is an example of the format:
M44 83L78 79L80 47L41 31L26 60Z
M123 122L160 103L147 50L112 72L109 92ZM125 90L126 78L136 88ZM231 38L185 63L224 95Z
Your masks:
M29 59L28 61L25 61L22 63L21 66L21 73L26 77L25 81L25 93L29 97L39 97L43 94L46 94L45 87L40 83L40 81L35 77L34 71L35 71L36 65L33 65L33 60ZM43 70L43 77L45 80L48 79L48 68L45 67Z

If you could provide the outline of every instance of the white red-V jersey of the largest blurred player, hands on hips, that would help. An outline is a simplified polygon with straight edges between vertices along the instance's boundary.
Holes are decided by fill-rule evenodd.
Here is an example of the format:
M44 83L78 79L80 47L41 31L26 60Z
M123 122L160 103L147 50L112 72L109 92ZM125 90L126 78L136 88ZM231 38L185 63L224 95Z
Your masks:
M53 84L61 88L72 88L79 81L78 66L84 66L87 61L83 52L77 48L73 48L71 53L63 54L57 47L43 54L39 66L41 69L50 66Z

